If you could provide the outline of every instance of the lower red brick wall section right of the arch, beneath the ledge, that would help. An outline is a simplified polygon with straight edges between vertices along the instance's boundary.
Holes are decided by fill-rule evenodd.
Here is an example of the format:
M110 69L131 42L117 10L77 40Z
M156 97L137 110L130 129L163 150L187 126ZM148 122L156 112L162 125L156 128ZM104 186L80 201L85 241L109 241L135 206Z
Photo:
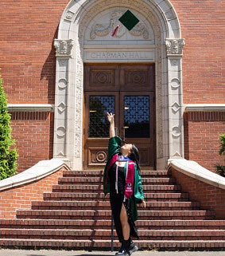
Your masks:
M219 156L220 133L225 133L225 112L185 113L185 159L215 172L215 164L224 164L224 156Z

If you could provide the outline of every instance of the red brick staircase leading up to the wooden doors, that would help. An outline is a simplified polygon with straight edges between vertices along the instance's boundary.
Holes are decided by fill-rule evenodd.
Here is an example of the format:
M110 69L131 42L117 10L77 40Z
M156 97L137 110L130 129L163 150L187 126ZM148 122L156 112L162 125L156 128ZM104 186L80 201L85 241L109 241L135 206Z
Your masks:
M64 171L43 201L0 219L0 247L111 250L111 207L103 171ZM215 250L225 247L225 220L191 202L169 171L142 171L147 207L138 208L142 250ZM114 248L120 246L114 232Z

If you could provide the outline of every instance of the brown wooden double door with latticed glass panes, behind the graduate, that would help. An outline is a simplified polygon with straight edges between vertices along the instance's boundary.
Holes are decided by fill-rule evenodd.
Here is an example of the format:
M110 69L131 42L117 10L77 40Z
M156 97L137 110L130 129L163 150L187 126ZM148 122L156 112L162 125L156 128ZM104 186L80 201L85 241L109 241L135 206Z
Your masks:
M83 168L103 168L107 161L109 122L115 132L135 144L141 167L154 167L154 65L84 65Z

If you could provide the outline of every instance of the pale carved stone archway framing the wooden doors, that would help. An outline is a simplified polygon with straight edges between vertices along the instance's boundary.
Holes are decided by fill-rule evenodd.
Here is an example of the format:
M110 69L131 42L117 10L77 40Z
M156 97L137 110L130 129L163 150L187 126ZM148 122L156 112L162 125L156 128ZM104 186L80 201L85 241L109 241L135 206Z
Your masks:
M95 2L71 1L60 20L56 47L56 99L54 158L68 161L74 169L83 167L83 61L87 57L85 35L91 21L107 10L128 8L138 11L152 26L156 65L157 168L171 158L184 157L182 119L182 48L177 14L169 1ZM96 47L96 45L95 45ZM90 47L88 48L91 49ZM137 48L138 51L138 48ZM105 59L105 61L109 61Z

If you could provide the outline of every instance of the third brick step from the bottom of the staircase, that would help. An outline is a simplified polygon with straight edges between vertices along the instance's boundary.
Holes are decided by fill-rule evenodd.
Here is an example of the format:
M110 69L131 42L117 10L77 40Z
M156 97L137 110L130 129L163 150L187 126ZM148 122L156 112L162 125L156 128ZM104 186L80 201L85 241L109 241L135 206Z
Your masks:
M136 222L138 229L146 229L150 227L150 230L225 230L225 220L211 220L211 221L142 221ZM99 219L95 220L42 220L42 219L2 219L0 220L1 228L12 229L86 229L87 227L97 228L109 228L111 226L111 219Z

